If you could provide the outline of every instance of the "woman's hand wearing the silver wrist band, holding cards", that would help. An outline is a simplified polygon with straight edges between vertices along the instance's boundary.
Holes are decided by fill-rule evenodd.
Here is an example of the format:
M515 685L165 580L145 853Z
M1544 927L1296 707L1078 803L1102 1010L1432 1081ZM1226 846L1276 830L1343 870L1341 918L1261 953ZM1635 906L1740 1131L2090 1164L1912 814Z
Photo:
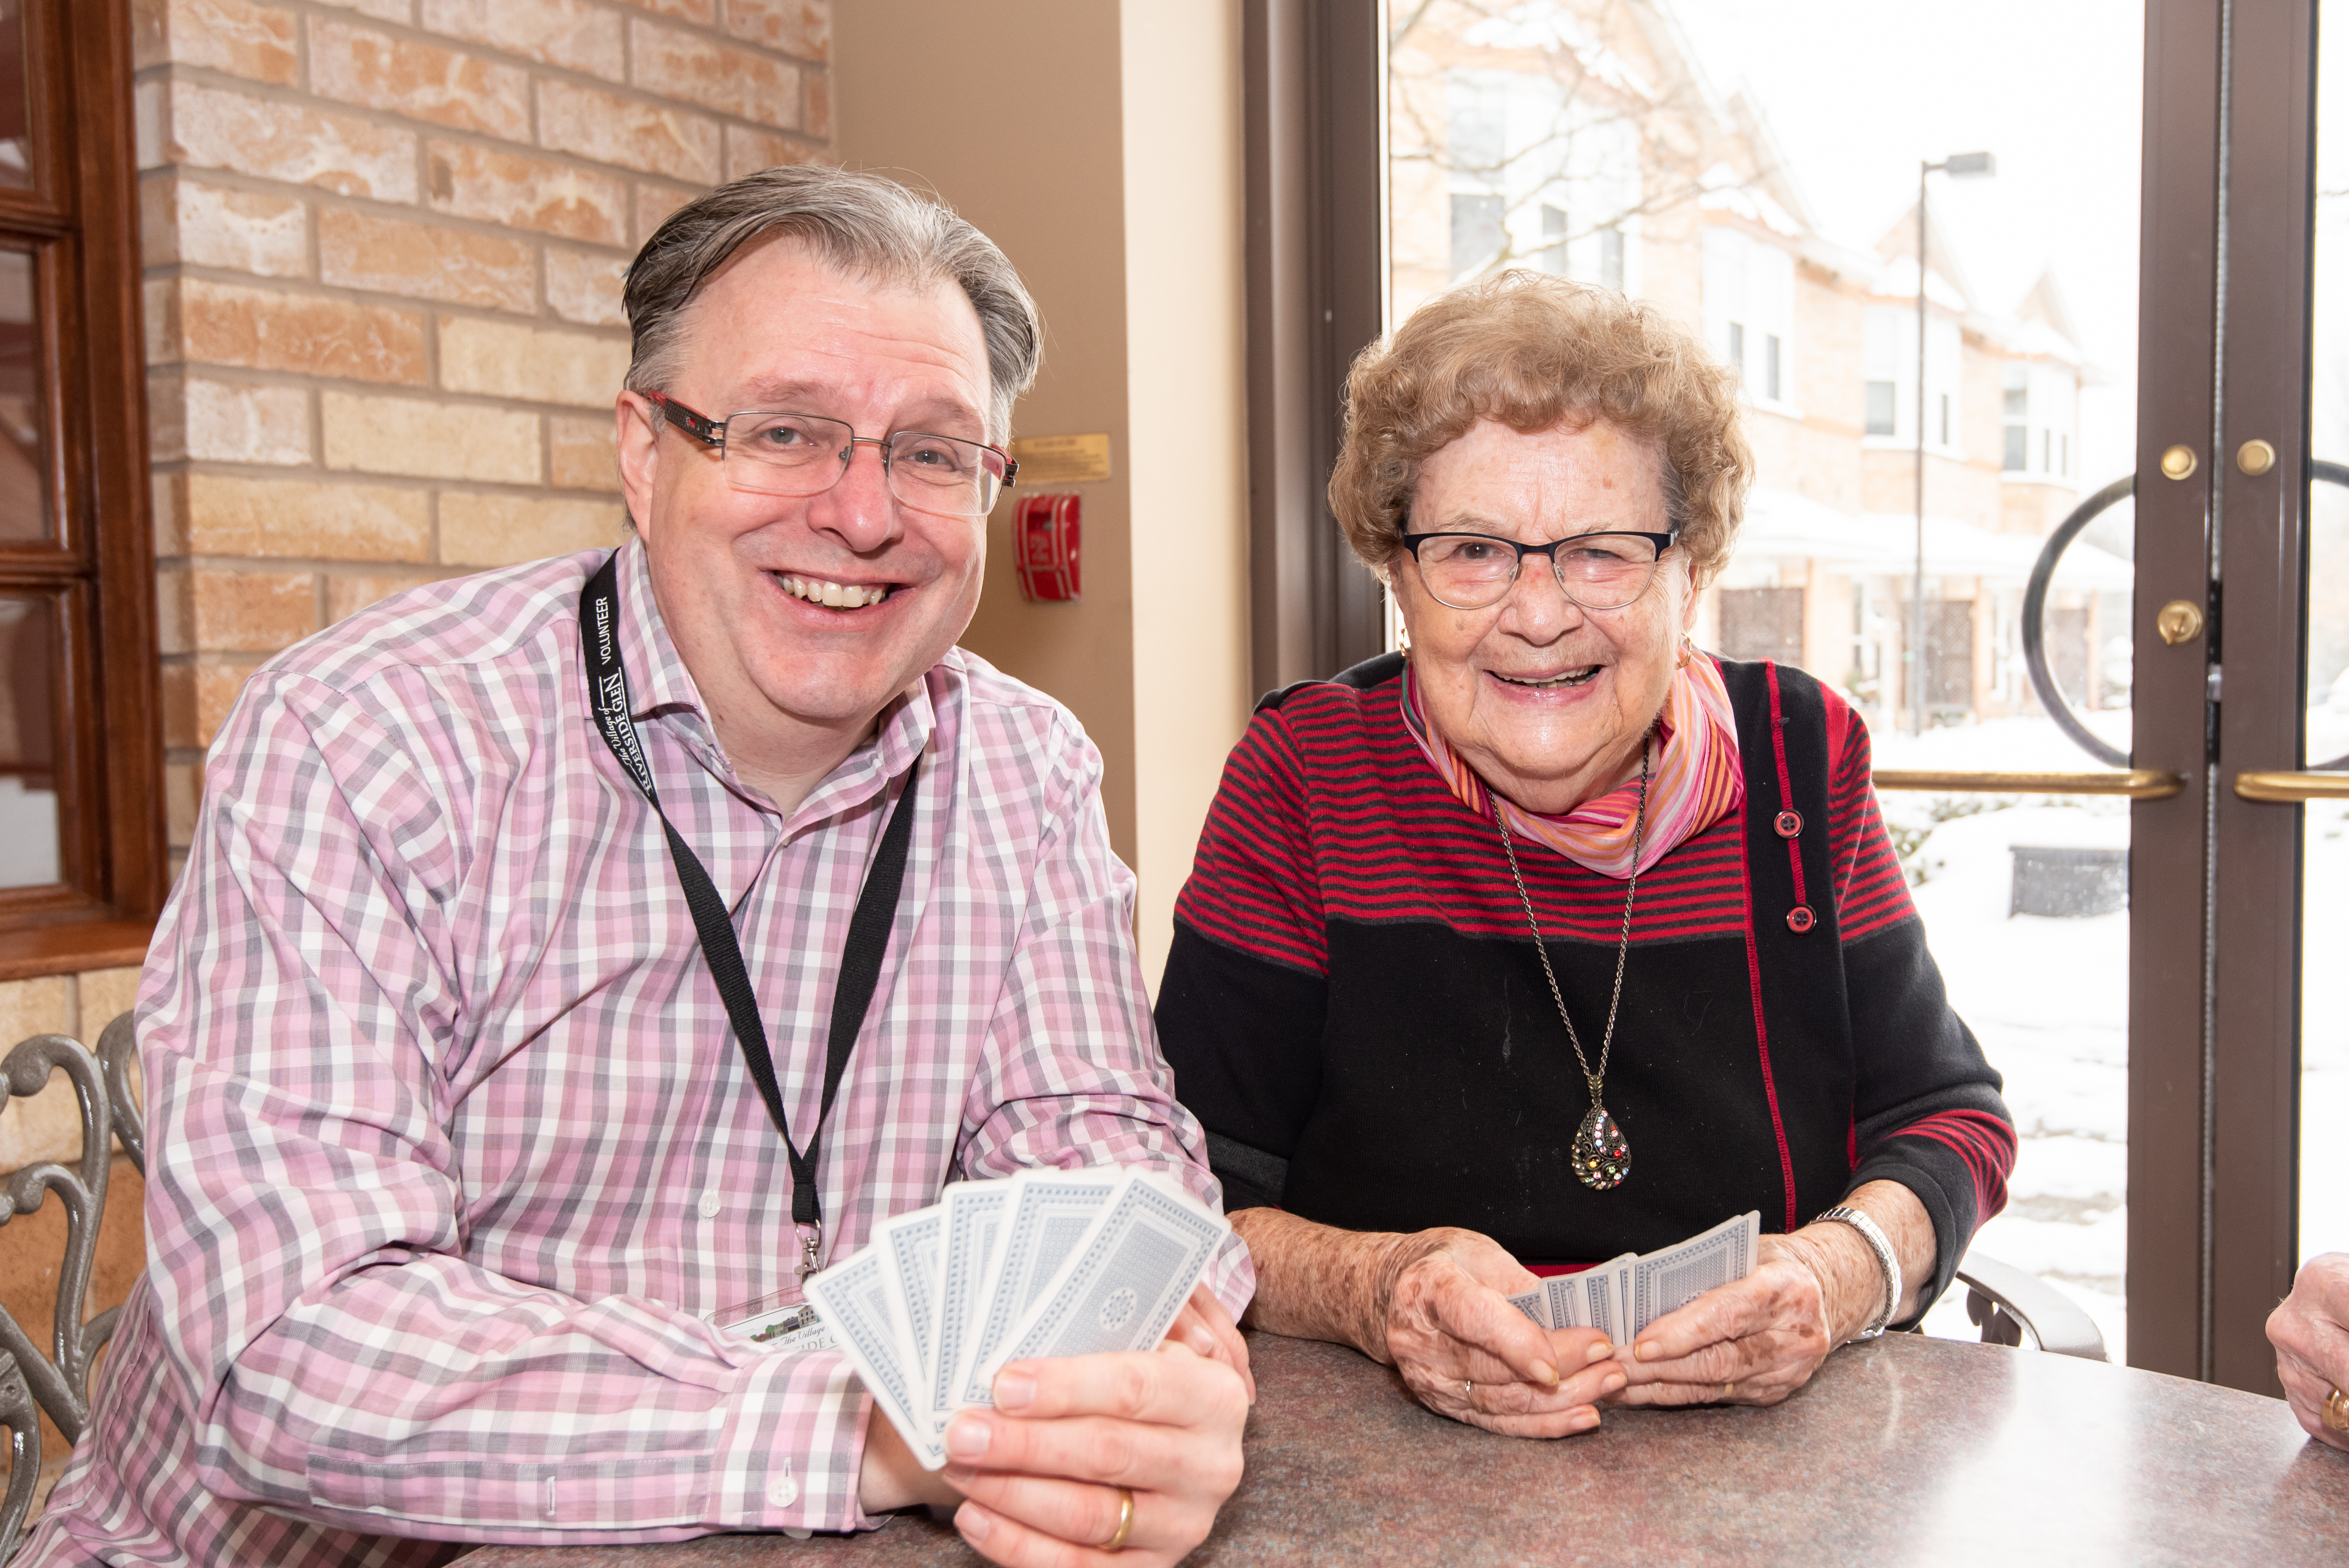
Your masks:
M1623 1359L1630 1385L1611 1404L1778 1404L1811 1380L1835 1343L1820 1275L1802 1244L1762 1237L1752 1275L1647 1326Z

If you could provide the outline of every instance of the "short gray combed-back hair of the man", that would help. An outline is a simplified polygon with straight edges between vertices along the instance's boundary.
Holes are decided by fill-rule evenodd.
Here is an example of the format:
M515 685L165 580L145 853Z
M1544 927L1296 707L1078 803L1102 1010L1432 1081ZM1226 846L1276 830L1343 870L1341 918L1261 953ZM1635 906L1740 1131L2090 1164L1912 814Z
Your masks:
M1010 434L1012 401L1036 380L1043 322L996 249L951 207L879 174L785 164L700 195L653 230L627 268L622 305L634 333L630 392L660 392L684 354L686 305L752 239L792 235L848 277L923 289L954 279L987 333L987 437ZM728 408L709 408L726 418ZM815 413L822 413L820 408Z

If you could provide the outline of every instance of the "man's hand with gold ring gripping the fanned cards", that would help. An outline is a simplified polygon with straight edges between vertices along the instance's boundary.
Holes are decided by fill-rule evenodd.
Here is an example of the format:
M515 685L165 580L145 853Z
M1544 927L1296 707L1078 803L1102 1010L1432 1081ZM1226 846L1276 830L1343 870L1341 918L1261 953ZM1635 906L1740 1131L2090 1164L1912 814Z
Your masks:
M1184 1317L1196 1310L1198 1298ZM1200 1329L1214 1338L1205 1314L1193 1336ZM1238 1354L1245 1368L1245 1345ZM956 1528L989 1561L1106 1563L1099 1547L1118 1533L1123 1488L1135 1519L1118 1568L1174 1563L1207 1540L1240 1483L1245 1371L1193 1352L1186 1336L1167 1336L1156 1354L1012 1361L994 1394L996 1408L963 1411L947 1427L940 1472L965 1498Z

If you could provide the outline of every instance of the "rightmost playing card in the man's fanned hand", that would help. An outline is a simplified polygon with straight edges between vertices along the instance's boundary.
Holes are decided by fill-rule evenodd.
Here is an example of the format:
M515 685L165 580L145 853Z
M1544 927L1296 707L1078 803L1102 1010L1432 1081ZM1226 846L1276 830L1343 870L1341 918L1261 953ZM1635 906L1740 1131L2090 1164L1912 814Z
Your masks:
M1029 1357L1156 1350L1229 1230L1174 1183L1132 1174L980 1380Z

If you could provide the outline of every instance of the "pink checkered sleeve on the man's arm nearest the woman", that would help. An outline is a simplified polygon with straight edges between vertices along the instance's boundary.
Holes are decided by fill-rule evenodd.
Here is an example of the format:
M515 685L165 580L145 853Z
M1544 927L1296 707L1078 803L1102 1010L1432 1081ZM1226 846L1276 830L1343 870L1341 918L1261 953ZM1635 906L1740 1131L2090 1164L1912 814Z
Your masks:
M1109 847L1102 753L1059 711L1038 735L1052 793L1027 918L970 1082L963 1171L1149 1164L1221 1209L1198 1117L1174 1099L1135 955L1135 876ZM1238 1322L1257 1289L1226 1237L1207 1286Z

